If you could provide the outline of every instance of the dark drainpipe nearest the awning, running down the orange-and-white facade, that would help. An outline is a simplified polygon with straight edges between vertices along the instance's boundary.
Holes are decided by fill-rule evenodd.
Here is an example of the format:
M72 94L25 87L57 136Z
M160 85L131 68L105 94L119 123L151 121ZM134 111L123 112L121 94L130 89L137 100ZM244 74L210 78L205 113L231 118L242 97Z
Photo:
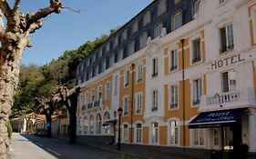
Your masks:
M186 156L186 126L185 126L185 60L184 60L184 42L185 39L180 39L182 45L182 116L183 116L183 158Z

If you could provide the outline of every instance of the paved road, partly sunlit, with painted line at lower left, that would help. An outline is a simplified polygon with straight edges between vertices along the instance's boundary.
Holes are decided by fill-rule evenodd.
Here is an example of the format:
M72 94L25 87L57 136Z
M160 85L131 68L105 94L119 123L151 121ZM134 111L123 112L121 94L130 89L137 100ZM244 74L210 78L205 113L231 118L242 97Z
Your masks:
M82 144L68 144L65 140L30 134L13 134L12 144L15 159L139 159Z

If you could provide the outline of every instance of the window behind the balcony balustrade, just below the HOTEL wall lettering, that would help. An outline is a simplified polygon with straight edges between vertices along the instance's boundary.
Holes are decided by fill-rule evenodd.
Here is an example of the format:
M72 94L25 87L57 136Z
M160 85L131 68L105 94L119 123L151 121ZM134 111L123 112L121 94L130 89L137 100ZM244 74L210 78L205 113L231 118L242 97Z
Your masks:
M222 92L230 92L236 89L236 72L234 70L221 74Z

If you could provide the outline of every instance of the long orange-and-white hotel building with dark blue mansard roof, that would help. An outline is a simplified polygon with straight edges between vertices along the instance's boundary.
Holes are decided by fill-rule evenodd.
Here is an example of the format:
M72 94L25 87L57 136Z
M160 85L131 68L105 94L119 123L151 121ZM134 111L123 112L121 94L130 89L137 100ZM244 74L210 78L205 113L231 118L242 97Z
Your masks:
M122 107L122 143L255 157L255 45L256 0L153 1L78 65L77 135L117 141Z

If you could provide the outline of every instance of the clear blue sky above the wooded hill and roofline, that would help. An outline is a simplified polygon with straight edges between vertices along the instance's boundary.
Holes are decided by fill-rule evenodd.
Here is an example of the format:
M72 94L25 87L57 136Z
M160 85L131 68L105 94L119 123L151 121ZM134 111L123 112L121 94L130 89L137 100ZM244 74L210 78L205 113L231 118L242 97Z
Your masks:
M76 49L88 40L108 35L111 29L126 24L153 0L62 0L63 6L80 13L63 9L60 15L50 15L44 26L30 35L32 47L26 48L23 65L45 65L57 59L66 50ZM23 0L20 10L35 13L49 0Z

